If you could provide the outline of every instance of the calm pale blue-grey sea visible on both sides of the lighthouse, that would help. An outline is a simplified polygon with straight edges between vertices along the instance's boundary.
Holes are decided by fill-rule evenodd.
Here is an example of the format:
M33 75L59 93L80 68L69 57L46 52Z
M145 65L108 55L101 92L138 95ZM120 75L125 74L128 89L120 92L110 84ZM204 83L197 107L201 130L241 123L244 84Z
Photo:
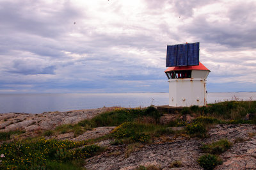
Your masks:
M42 113L100 107L168 105L168 93L51 93L0 94L0 113ZM207 93L207 103L256 100L256 92Z

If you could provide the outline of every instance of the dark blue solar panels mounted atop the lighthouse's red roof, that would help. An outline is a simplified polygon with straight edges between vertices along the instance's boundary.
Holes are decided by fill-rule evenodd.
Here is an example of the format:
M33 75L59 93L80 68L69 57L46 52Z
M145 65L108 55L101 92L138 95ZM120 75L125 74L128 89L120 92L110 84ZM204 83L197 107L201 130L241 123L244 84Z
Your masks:
M199 42L167 45L166 67L199 65Z

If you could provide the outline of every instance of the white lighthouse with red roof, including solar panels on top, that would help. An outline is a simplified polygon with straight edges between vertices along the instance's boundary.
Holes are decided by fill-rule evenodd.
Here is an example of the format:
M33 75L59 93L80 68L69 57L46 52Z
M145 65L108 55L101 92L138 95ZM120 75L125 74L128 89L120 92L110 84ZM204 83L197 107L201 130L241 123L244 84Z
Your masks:
M206 79L210 70L199 62L199 42L168 45L166 67L169 106L207 104Z

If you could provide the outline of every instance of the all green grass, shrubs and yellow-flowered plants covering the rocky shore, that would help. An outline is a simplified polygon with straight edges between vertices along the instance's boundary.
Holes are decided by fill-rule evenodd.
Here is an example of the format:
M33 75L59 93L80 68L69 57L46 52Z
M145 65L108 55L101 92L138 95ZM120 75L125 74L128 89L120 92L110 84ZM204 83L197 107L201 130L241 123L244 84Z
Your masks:
M123 109L104 112L90 120L83 120L76 124L65 124L56 127L54 130L46 130L39 134L51 137L54 134L65 134L73 132L74 137L83 134L86 130L95 127L116 126L108 135L83 142L58 141L54 139L20 139L19 134L24 131L0 132L0 141L5 141L0 145L1 169L81 169L84 158L92 157L104 148L100 148L92 143L104 139L114 139L111 144L125 145L125 157L139 150L145 143L151 143L156 137L165 137L170 134L184 134L190 137L206 137L207 129L215 123L254 123L256 118L245 120L248 113L256 113L256 102L222 102L209 104L207 107L184 107L180 111L180 116L190 114L194 120L189 122L178 118L170 121L167 125L162 125L161 113L155 107L146 109ZM180 117L179 116L179 117ZM172 127L185 127L179 132L173 131ZM255 134L252 134L254 136ZM15 137L16 136L16 137ZM12 139L12 141L8 141ZM8 141L8 142L7 142ZM236 139L236 142L242 139ZM88 145L91 144L91 145ZM203 144L201 149L205 155L198 158L198 163L204 169L213 169L221 164L218 154L227 151L232 146L227 139L221 139L211 144ZM120 154L118 151L113 154ZM175 161L169 167L182 166L180 161ZM140 166L137 169L159 169L156 166Z

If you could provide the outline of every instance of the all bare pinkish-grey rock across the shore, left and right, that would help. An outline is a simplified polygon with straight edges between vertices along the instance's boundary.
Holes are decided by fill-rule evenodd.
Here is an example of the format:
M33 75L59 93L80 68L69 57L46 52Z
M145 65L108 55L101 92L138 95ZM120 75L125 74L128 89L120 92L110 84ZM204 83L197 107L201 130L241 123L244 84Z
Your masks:
M87 109L68 112L47 112L42 114L6 113L0 114L1 131L17 129L26 130L27 137L38 130L54 129L58 125L77 123L84 119L93 118L97 114L111 111L115 107ZM188 116L185 116L189 118ZM164 115L163 121L177 118L177 115ZM106 135L115 127L97 127L87 130L74 137L74 132L52 135L49 138L83 141ZM180 127L178 130L182 129ZM177 130L177 128L173 128ZM214 125L204 139L190 138L188 135L164 135L156 137L150 144L112 145L111 139L97 142L106 150L95 157L85 160L86 169L136 169L138 166L156 166L161 169L202 169L196 161L202 150L203 143L212 143L220 139L228 139L232 147L220 157L223 164L216 169L256 169L256 126L255 125ZM181 167L173 168L172 162L181 162Z

